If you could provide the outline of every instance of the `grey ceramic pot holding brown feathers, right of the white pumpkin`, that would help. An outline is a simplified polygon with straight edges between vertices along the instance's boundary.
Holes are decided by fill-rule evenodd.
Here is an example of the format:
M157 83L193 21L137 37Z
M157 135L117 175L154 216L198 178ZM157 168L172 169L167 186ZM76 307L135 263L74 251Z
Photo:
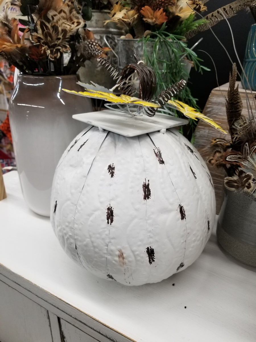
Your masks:
M217 239L238 261L256 267L256 197L225 189L218 216Z

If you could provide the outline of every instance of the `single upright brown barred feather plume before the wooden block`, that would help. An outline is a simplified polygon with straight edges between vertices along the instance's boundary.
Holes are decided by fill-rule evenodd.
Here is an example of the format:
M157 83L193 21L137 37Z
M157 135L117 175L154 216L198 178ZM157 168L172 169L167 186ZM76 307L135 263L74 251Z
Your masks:
M238 85L236 87L236 79L237 70L236 64L234 63L232 66L232 74L229 74L229 88L227 98L225 97L227 121L231 138L233 138L233 134L235 132L233 124L235 121L240 119L243 108L243 103L238 90Z

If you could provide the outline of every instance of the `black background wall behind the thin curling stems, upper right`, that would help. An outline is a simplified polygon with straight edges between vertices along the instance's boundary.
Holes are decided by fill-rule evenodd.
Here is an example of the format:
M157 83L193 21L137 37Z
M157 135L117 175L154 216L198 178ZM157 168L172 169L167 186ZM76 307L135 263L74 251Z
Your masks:
M229 4L230 2L232 2L232 0L209 0L205 4L208 10L203 14L207 15L226 4ZM229 18L228 21L232 28L236 50L241 63L243 63L247 36L250 26L255 24L254 18L250 10L242 10L233 17ZM213 26L212 29L215 35L219 40L221 40L222 44L227 49L232 61L237 63L238 71L240 72L241 68L239 67L237 57L234 52L232 37L227 22L222 20ZM188 46L192 47L201 37L203 37L203 40L197 45L195 52L203 60L203 62L201 62L202 65L208 67L211 69L211 71L203 71L203 75L201 75L195 70L195 68L192 68L190 71L189 88L192 95L195 98L198 98L198 105L202 110L207 102L211 90L216 88L218 84L222 85L228 82L229 72L232 70L232 63L210 29L200 32L195 37L190 38L188 41ZM211 58L206 53L199 50L207 52L214 60L217 69L218 84ZM239 77L238 80L240 80Z

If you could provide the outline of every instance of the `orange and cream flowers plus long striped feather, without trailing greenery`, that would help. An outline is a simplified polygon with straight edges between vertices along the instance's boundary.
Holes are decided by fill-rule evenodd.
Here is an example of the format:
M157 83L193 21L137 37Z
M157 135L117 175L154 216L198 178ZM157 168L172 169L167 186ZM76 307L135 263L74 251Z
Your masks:
M166 32L190 38L255 2L236 0L197 19L197 13L207 11L204 4L208 1L119 0L113 5L109 21L122 27L127 32L126 38L145 37L152 31L158 31L163 24Z

